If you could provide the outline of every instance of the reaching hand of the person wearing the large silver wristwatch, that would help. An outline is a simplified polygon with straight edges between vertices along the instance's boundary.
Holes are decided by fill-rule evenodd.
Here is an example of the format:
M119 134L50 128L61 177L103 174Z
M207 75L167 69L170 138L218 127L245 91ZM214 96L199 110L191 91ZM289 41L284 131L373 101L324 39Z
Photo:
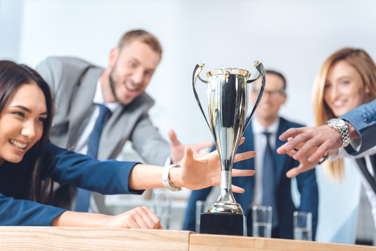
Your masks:
M309 153L310 150L317 147L316 151L314 151L313 154L310 154L307 159L307 161L311 163L319 160L327 151L338 149L342 145L341 134L327 125L290 128L282 133L282 135L279 136L279 139L284 141L291 137L294 137L294 139L280 146L277 149L277 153L288 153L300 145L301 148L299 151L292 156L294 159L299 160Z

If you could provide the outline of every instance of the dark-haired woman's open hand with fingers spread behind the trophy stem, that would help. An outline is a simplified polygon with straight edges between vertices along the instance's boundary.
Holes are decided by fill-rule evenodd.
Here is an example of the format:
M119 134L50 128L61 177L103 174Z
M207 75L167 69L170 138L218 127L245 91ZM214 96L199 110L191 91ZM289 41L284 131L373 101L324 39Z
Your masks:
M244 142L241 138L240 144ZM238 153L235 155L234 162L249 159L256 156L255 151ZM253 170L232 169L232 176L251 176L255 174ZM203 157L195 159L191 148L185 148L185 156L182 160L180 177L183 186L191 189L202 189L209 186L219 186L221 183L221 162L217 151L206 154ZM243 193L244 189L232 186L232 191Z

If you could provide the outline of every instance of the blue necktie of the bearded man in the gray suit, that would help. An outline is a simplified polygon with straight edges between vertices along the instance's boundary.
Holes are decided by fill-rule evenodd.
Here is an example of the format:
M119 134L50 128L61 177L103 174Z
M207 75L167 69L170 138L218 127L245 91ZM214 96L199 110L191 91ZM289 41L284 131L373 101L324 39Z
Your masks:
M99 116L97 118L97 122L94 125L94 129L92 130L89 141L88 141L88 153L87 156L96 159L98 153L98 145L100 134L102 133L102 129L105 126L106 122L108 121L109 117L111 116L111 111L103 104L99 104ZM77 188L77 197L76 197L76 212L88 212L89 209L89 202L90 202L90 191Z

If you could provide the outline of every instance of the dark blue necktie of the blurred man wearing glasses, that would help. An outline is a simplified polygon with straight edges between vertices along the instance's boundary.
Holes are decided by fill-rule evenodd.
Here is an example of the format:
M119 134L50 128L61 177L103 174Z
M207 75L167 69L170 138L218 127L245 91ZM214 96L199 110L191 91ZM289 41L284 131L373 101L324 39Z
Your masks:
M266 148L264 155L264 169L262 174L262 204L272 207L272 228L278 225L278 213L276 203L276 172L274 153L269 143L270 133L264 132L266 136Z

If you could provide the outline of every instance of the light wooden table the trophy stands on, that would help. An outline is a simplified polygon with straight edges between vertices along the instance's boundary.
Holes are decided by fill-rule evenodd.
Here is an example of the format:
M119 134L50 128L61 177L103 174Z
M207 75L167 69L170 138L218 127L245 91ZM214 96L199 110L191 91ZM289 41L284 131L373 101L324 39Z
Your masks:
M175 230L0 227L2 250L373 250L373 246L197 234Z

